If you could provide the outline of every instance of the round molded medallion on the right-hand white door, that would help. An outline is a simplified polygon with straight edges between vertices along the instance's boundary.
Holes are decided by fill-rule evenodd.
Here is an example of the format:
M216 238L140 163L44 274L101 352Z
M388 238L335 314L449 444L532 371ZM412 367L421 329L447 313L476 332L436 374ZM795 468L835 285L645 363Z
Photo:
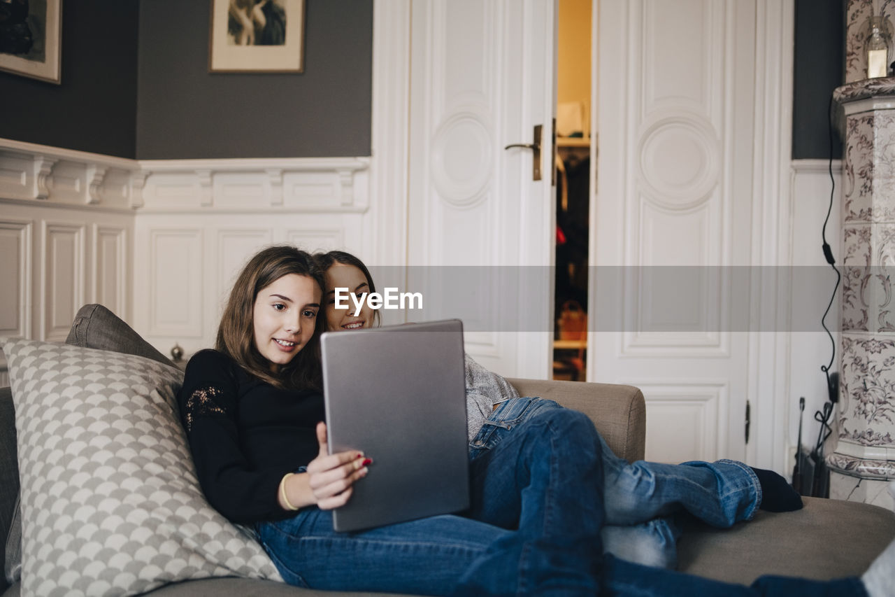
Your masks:
M640 178L649 198L669 209L709 199L720 181L720 143L698 117L660 118L641 135Z

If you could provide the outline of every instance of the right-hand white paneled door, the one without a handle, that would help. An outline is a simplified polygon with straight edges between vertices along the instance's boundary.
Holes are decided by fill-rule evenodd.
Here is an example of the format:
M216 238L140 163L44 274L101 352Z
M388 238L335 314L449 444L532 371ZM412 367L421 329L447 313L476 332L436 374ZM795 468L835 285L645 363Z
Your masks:
M588 372L642 388L648 459L782 471L791 3L599 4Z

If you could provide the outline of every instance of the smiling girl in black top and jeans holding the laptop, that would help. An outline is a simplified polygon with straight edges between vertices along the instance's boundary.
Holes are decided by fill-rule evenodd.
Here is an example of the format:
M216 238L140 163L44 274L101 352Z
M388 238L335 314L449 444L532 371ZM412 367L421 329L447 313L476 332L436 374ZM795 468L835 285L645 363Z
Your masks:
M570 409L535 413L491 446L487 475L473 467L478 519L440 515L333 531L331 510L375 467L362 452L328 454L323 288L303 251L269 247L254 255L236 278L216 349L190 359L178 394L209 503L251 525L287 583L433 595L761 594L601 558L601 439ZM823 588L864 594L857 578Z

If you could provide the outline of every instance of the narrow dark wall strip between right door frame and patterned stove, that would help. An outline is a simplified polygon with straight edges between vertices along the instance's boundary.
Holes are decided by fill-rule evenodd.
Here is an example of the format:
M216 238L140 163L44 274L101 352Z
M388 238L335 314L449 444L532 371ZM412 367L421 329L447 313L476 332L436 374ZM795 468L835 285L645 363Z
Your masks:
M843 0L796 0L792 157L830 158L830 97L845 81ZM833 131L832 156L842 157Z

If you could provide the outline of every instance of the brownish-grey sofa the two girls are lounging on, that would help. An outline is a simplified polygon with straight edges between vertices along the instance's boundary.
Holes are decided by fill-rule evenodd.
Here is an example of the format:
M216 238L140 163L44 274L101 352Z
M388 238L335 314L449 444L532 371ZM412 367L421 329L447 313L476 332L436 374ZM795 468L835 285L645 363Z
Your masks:
M127 324L98 305L81 308L66 344L137 355L148 359L145 362L174 367L174 363L143 341ZM550 398L585 412L617 454L629 461L643 458L646 411L644 396L637 388L533 379L510 379L510 382L521 395ZM13 392L10 387L0 388L0 561L6 561L7 567L17 555L13 552L21 546L21 523L14 516L20 493L16 450ZM686 523L678 543L678 569L741 584L749 584L766 574L815 579L860 575L895 538L895 514L886 509L823 498L805 497L804 500L805 507L796 512L760 511L753 521L738 523L727 530L695 521ZM8 538L5 545L4 538ZM4 597L17 596L20 589L20 583L10 585L0 578L0 594ZM215 597L347 594L226 575L163 584L151 593Z

